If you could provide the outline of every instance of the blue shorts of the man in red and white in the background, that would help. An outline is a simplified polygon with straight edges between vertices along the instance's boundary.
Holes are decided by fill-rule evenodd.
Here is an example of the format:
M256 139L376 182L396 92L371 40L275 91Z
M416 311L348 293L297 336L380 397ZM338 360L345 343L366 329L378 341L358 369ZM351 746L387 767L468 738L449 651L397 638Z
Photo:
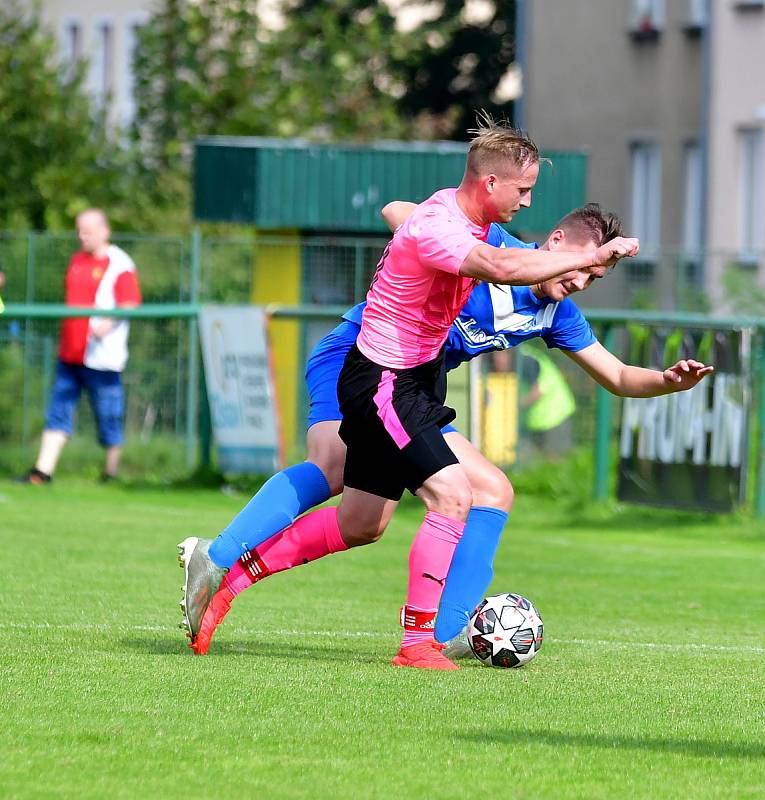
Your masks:
M90 369L77 364L58 362L53 394L45 418L46 430L73 430L74 408L85 389L98 425L98 441L103 447L122 444L122 417L125 393L119 372Z

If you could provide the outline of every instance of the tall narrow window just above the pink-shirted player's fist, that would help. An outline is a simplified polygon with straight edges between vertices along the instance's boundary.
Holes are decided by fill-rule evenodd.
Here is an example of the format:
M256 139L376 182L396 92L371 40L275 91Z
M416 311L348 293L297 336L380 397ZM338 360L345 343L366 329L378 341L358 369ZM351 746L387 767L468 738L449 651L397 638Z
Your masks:
M661 151L652 142L636 142L630 153L630 234L651 260L661 243Z

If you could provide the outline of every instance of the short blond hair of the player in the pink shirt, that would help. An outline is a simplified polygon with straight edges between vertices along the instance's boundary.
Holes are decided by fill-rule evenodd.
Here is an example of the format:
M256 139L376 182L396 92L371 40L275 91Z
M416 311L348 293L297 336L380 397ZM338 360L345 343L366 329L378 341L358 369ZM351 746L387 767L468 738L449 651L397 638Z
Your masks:
M496 173L523 170L541 159L533 139L520 128L514 128L506 119L494 120L486 111L476 115L476 127L468 131L470 140L465 174L472 178ZM548 161L549 163L549 161Z

